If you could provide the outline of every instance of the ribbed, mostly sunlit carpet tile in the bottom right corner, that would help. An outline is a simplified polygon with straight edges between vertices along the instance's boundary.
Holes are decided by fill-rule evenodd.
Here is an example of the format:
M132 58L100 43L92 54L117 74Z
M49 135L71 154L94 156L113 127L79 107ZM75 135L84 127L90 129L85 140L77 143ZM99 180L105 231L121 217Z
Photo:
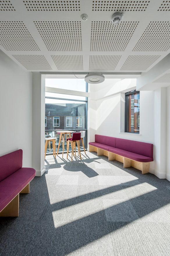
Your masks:
M114 255L168 256L170 226L164 223L108 222Z

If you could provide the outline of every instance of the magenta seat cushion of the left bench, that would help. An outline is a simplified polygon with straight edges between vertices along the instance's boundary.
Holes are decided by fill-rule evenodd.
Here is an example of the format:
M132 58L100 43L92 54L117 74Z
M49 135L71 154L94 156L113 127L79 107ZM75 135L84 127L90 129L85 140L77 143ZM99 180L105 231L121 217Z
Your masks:
M0 183L0 211L35 177L33 168L20 168Z

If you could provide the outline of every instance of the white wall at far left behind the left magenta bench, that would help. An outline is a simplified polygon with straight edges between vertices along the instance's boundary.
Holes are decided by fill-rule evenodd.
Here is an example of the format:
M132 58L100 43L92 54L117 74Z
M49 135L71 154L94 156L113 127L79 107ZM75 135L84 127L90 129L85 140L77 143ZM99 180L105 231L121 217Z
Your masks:
M23 166L32 164L32 73L0 51L0 156L23 150Z

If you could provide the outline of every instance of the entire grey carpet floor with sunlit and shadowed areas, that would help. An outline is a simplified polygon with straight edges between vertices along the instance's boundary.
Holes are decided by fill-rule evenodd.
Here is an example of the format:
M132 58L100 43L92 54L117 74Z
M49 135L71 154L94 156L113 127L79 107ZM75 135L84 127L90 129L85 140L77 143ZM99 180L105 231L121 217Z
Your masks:
M169 181L82 154L46 157L19 217L0 218L0 255L169 255Z

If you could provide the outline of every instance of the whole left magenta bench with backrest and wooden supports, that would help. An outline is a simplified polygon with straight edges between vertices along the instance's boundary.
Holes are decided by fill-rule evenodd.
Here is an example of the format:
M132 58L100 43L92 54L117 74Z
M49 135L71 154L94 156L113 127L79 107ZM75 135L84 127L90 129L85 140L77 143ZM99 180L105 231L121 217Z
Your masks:
M0 216L18 216L19 193L29 193L35 174L35 169L22 167L21 149L0 157Z

